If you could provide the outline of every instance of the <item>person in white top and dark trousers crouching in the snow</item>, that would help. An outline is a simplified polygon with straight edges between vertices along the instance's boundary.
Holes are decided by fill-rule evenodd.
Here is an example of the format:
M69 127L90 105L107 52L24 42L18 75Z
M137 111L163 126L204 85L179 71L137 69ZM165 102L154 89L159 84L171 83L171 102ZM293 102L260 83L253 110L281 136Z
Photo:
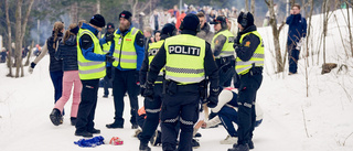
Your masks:
M221 144L233 144L238 140L237 131L234 128L233 122L237 123L238 115L238 105L237 105L238 89L233 87L224 88L218 96L218 105L211 110L217 116L213 119L204 122L202 128L214 127L222 122L224 128L227 130L228 136L221 141ZM256 123L255 127L258 127L263 122L263 110L256 104Z

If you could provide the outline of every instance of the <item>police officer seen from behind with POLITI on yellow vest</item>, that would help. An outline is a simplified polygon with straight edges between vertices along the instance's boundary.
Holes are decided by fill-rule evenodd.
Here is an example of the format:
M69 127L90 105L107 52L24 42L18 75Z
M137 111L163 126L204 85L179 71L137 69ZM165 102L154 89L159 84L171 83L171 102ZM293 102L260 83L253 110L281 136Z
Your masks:
M205 77L210 79L207 106L217 105L218 72L210 44L195 36L200 21L195 14L188 14L181 24L181 34L165 39L150 64L146 82L146 97L153 97L153 85L160 69L165 67L165 91L161 108L162 148L174 151L180 122L179 151L192 150L193 126L199 118L199 103L204 89Z

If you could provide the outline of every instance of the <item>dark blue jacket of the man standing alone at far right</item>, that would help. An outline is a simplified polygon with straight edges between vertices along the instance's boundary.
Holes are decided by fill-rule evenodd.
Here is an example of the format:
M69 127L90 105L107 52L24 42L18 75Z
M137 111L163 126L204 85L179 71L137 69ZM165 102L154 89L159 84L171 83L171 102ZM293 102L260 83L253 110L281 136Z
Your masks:
M288 29L288 41L287 44L290 45L293 42L298 43L301 37L307 36L307 20L301 18L301 14L290 14L287 18L286 23L289 25Z

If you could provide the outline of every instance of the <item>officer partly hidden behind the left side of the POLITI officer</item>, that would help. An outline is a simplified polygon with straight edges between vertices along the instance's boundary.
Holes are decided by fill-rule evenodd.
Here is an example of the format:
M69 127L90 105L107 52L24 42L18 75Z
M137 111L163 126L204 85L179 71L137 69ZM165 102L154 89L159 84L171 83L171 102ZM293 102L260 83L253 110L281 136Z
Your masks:
M145 60L140 71L141 86L145 85L149 65L152 62L156 54L158 53L158 51L160 50L160 47L162 46L162 44L164 43L164 40L169 36L175 35L176 32L178 30L173 24L167 23L161 31L161 40L156 43L151 43L148 46L147 48L148 51L146 51L145 53ZM150 98L148 97L145 98L145 109L146 109L147 118L142 127L142 132L139 137L140 151L150 150L150 148L148 147L148 141L153 136L157 129L157 126L159 123L159 114L160 114L161 104L162 104L162 88L163 88L162 82L164 78L163 75L164 75L164 69L161 69L160 73L158 74L157 80L154 82L154 87L153 87L154 96L152 98L153 100L150 100ZM145 87L142 87L141 89L145 89ZM143 90L141 95L143 95Z

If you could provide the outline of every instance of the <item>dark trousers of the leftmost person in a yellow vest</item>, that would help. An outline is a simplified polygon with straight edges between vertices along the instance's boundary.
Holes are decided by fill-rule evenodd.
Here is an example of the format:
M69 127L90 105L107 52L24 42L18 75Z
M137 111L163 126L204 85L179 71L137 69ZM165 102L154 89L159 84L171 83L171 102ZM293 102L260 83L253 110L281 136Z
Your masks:
M82 93L77 111L76 132L92 131L97 106L99 79L81 80Z

